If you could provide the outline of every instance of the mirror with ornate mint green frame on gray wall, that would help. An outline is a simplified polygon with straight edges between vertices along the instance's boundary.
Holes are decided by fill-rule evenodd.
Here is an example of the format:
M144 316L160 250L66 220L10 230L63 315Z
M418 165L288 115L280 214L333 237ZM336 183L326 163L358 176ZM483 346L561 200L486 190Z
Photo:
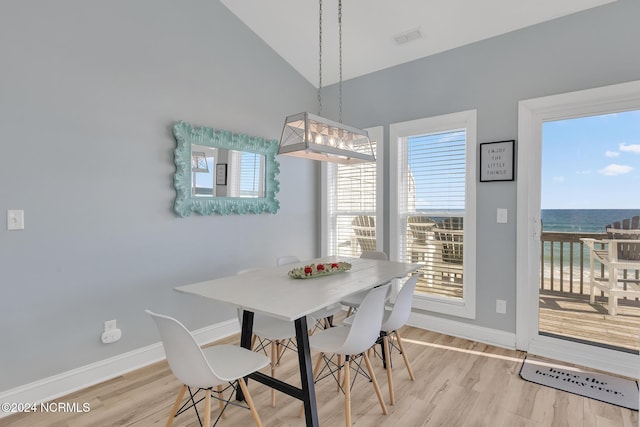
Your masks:
M181 217L276 213L278 141L179 121L174 211Z

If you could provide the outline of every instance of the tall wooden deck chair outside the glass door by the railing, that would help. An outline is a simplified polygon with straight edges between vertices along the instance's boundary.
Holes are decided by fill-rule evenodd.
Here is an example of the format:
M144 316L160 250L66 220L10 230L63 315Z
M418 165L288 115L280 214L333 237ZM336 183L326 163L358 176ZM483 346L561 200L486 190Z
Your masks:
M608 296L609 314L615 316L618 298L640 298L640 216L605 227L607 238L583 238L589 247L590 302L596 291ZM596 264L603 266L597 274ZM606 273L606 274L605 274Z

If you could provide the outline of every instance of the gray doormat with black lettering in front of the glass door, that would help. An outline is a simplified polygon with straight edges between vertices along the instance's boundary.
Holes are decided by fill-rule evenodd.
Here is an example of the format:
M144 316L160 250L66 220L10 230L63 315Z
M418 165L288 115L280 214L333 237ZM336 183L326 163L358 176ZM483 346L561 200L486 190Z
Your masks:
M638 410L638 382L527 356L520 377L532 383Z

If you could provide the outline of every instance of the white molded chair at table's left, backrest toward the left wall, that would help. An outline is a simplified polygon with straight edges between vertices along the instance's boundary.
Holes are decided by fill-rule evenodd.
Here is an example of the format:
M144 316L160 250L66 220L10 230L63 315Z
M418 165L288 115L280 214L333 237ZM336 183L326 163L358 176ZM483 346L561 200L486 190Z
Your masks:
M214 387L216 388L214 398L218 399L220 408L220 414L214 425L220 420L230 401L235 399L234 392L237 392L240 387L253 421L257 426L262 426L244 377L267 366L269 364L268 358L242 347L228 344L202 349L191 332L178 320L150 310L145 311L158 327L171 371L182 382L182 387L169 413L167 427L171 427L175 417L189 408L194 408L198 420L200 420L196 403L202 399L196 400L196 395L201 391L204 392L204 425L209 426L211 424L211 397ZM225 385L224 388L223 385ZM231 389L233 392L229 393L229 398L225 400L223 393L227 389ZM189 391L190 404L189 402L182 404L187 390ZM233 405L238 406L236 402L233 402Z

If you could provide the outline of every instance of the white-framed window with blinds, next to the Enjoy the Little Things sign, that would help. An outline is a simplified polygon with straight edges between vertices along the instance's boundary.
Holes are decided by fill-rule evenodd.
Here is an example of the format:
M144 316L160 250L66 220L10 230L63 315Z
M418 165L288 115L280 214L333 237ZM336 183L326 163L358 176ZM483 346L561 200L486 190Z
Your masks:
M475 317L476 113L391 125L391 258L419 263L414 306Z

